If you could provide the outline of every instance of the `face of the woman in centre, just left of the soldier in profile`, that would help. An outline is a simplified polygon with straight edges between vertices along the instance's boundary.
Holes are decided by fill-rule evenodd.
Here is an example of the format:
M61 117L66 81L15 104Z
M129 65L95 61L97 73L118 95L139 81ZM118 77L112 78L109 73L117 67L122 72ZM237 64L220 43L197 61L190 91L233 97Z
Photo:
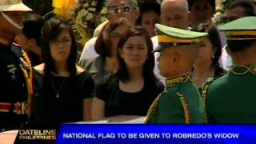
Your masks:
M142 67L148 58L149 49L145 38L132 36L127 39L119 53L128 68Z

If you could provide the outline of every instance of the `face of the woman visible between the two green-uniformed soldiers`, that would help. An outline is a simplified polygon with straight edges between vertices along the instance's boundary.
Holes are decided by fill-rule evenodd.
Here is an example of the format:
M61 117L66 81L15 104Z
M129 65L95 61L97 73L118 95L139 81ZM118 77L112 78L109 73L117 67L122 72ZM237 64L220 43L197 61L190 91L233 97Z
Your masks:
M215 48L211 44L209 38L203 38L200 44L200 47L198 49L198 58L196 60L196 63L212 61L212 58L214 57L214 53L215 53Z

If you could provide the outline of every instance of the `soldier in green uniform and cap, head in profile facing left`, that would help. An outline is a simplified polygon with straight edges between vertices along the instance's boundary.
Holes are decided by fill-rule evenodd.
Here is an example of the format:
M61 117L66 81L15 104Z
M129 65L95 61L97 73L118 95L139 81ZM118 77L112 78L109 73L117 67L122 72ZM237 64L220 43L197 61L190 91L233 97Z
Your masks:
M166 77L166 90L150 106L146 123L203 123L204 104L194 86L191 70L200 38L206 33L156 25L160 52L159 69Z

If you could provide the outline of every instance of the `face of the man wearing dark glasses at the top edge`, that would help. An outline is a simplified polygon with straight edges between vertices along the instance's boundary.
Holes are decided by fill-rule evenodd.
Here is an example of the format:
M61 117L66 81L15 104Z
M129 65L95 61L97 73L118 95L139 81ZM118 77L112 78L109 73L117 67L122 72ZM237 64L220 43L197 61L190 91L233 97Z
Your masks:
M131 25L135 25L139 16L138 6L134 6L130 0L110 0L108 7L108 19L116 21L118 18L127 18Z

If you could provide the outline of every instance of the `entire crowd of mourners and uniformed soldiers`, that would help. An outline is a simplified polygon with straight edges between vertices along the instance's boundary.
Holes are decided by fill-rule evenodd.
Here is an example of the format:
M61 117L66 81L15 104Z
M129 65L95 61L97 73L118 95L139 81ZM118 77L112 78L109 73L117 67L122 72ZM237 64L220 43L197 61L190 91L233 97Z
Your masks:
M146 116L146 123L256 123L256 15L214 0L106 0L107 21L78 44L60 15L0 2L0 132L26 124Z

